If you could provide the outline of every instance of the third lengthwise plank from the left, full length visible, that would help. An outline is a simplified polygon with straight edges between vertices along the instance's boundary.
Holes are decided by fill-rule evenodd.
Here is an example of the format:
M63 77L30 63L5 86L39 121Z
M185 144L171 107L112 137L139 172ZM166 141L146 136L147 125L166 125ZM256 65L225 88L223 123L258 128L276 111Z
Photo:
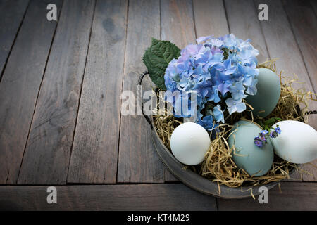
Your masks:
M66 184L94 1L65 1L18 184Z

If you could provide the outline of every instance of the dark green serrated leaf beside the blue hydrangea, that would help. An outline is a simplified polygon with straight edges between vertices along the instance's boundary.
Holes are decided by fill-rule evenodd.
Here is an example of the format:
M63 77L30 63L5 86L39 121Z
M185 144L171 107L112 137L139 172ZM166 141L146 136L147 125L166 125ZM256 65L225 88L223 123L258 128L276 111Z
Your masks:
M151 80L160 89L166 90L164 74L173 58L180 56L180 49L170 41L159 41L152 38L152 44L144 53L143 63L147 67Z

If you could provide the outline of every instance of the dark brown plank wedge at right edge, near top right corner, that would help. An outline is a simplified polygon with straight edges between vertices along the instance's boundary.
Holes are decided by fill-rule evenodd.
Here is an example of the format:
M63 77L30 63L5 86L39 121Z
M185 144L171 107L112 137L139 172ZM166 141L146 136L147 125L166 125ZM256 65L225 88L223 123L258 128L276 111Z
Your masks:
M311 84L317 91L317 20L309 1L283 1Z

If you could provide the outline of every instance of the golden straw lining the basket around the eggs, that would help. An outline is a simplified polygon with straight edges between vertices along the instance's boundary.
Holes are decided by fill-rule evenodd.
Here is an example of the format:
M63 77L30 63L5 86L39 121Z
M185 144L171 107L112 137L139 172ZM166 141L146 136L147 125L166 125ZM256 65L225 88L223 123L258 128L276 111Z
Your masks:
M299 83L297 77L285 77L282 72L278 72L275 67L275 59L267 60L259 65L259 68L268 68L273 70L280 77L281 94L278 105L275 110L266 118L253 117L251 113L251 105L247 104L247 109L244 113L234 113L225 115L226 124L220 124L218 127L220 132L213 137L209 150L205 155L204 161L197 166L184 166L192 169L197 174L204 176L213 182L218 183L219 192L220 185L226 185L232 188L244 186L256 186L268 184L272 181L281 181L282 179L290 179L290 172L296 169L299 173L303 170L297 165L287 162L274 156L273 165L270 171L264 176L250 176L243 169L237 168L232 160L232 154L235 149L228 145L228 135L232 129L232 124L239 120L248 120L261 124L265 120L272 117L279 117L282 120L298 120L301 122L307 121L308 101L316 101L316 95L312 92L306 92L304 89L294 89L292 84ZM162 98L162 96L159 96ZM165 114L165 115L162 115ZM170 150L170 136L178 125L182 124L182 119L175 118L167 112L154 113L154 125L159 137Z

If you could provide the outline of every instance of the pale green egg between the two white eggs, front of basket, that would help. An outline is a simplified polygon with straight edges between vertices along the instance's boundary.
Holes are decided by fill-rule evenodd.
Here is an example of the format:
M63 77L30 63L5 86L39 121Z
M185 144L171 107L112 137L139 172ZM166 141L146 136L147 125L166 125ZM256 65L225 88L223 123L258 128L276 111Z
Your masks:
M230 148L235 145L235 153L238 154L232 153L233 161L249 175L263 176L273 164L274 152L271 141L268 140L268 143L259 148L254 144L254 137L261 131L256 124L240 120L234 126L228 139Z

